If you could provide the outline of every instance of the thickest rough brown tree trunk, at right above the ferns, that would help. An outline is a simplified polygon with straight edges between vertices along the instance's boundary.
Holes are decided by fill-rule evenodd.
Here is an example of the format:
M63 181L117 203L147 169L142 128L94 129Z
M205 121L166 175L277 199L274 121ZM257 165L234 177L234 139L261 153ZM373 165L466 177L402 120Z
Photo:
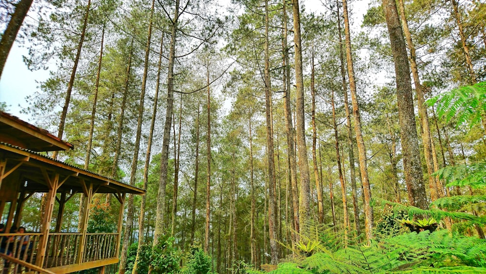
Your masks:
M420 163L407 49L395 1L382 0L382 2L395 62L403 173L407 184L408 198L413 206L425 209L428 207L428 202Z

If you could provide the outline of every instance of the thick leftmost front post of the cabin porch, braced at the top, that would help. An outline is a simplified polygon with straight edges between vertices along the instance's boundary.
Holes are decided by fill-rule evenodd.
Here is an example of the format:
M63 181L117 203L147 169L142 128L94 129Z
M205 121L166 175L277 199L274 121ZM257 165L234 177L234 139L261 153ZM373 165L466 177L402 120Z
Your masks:
M44 212L44 216L41 223L41 233L42 235L39 238L38 243L38 251L37 251L37 258L35 260L35 265L42 267L44 265L44 259L47 253L47 244L49 240L49 229L51 228L51 219L52 219L52 211L54 210L54 201L56 197L56 191L60 186L59 183L59 174L54 173L52 178L49 177L47 171L42 169L42 173L44 174L44 178L49 186L49 192L47 193L47 202L46 202L46 211Z

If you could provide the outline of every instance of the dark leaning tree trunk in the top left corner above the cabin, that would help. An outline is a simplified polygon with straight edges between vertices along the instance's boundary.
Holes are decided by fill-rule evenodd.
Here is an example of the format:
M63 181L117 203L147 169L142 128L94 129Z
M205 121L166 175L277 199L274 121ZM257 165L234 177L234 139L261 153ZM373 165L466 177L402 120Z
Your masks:
M20 30L20 26L22 26L22 22L27 16L27 12L29 12L31 4L32 0L18 1L18 3L15 5L14 14L12 14L7 28L5 29L5 32L3 32L0 40L0 78L3 72L3 67L5 66L5 62L7 61L8 54L10 53L10 49L15 42L18 30Z

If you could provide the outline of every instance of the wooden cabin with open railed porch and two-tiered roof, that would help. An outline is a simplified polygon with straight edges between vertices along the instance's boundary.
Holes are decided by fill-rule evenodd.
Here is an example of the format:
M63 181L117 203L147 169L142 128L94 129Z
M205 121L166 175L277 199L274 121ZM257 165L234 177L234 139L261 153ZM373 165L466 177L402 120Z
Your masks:
M72 273L92 268L104 273L106 266L118 263L125 196L145 191L45 153L69 149L73 149L71 144L47 130L0 111L0 216L6 216L0 234L0 274ZM39 211L43 212L40 230L7 233L22 224L23 205L35 193L43 193L45 201ZM76 193L86 197L80 199L83 221L76 232L61 232L64 206ZM111 193L119 201L110 205L119 208L115 233L87 233L89 205L96 193ZM55 203L57 215L53 216Z

